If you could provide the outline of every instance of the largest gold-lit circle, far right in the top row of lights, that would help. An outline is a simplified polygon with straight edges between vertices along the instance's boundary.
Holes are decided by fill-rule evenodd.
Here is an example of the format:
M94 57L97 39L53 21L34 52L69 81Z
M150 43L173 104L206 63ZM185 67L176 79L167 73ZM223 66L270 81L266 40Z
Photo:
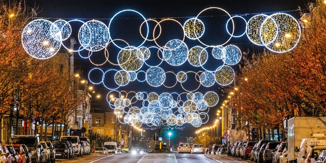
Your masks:
M274 25L276 25L275 38L266 42L263 36L273 34L275 32ZM265 30L266 28L268 30ZM278 53L292 50L301 37L300 24L291 15L285 13L276 13L266 18L260 27L260 31L261 40L265 47L272 52Z

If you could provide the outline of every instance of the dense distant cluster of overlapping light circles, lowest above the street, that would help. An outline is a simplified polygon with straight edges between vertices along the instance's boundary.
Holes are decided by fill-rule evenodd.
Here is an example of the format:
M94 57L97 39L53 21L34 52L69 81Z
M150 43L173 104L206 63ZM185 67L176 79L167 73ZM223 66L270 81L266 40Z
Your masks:
M115 92L119 97L112 98L110 95ZM217 104L218 96L215 92L207 92L205 95L200 92L158 95L155 92L110 91L107 101L123 124L141 127L143 124L182 126L189 123L199 127L208 121L209 107ZM207 121L203 122L206 118Z

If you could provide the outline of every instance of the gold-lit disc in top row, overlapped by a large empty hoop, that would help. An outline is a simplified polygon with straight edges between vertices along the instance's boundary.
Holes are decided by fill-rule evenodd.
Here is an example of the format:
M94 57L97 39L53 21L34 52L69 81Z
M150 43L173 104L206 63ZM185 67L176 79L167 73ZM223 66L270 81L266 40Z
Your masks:
M188 19L184 26L185 36L190 39L200 38L205 32L204 23L196 18Z

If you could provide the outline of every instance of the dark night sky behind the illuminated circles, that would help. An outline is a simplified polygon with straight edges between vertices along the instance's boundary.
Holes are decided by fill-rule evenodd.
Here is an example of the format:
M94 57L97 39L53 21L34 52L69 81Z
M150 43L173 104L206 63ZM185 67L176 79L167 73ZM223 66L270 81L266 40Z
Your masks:
M63 20L71 20L71 19L82 19L82 21L87 22L90 20L99 20L106 25L109 24L110 18L114 16L115 13L124 10L124 9L132 9L140 12L145 18L157 18L155 20L160 21L161 18L172 18L179 21L182 25L189 18L196 17L200 11L208 7L220 7L229 12L232 16L239 15L242 16L246 21L248 21L255 14L265 13L267 15L273 14L273 12L281 12L281 11L289 11L296 10L300 6L301 9L306 9L306 5L308 3L307 0L200 0L200 1L189 1L189 0L167 0L167 1L155 1L155 0L143 0L143 1L127 1L127 0L28 0L29 6L38 6L39 13L37 17L40 18L51 18L48 19L52 22L57 20L57 18L61 18ZM306 11L306 10L305 10ZM300 14L299 11L290 11L286 12L292 15L294 18L299 19ZM247 14L247 15L246 15ZM224 43L229 39L230 35L227 34L225 30L225 24L228 21L229 17L226 16L225 12L219 10L209 10L207 12L203 12L201 16L206 16L200 18L202 22L205 24L205 33L202 37L202 41L210 44L210 45L218 45ZM209 17L210 16L210 17ZM128 19L127 19L128 18ZM135 19L136 18L136 19ZM112 21L112 29L110 32L112 33L112 37L124 39L128 42L129 45L138 46L143 38L140 35L139 27L140 24L144 21L140 19L141 17L132 12L126 12L119 14L116 20ZM235 22L235 31L234 34L240 34L244 31L245 25L241 19L234 19ZM73 22L72 25L72 36L78 40L78 31L82 23ZM153 29L156 24L153 22L149 22L150 26L150 35L149 38L152 39ZM231 26L228 26L228 29L232 29ZM142 28L143 34L146 33L146 28ZM206 35L205 35L206 34ZM171 39L183 39L183 30L180 25L175 22L163 22L162 23L162 33L161 36L157 39L159 45L164 46ZM200 42L197 40L191 40L185 38L184 41L188 49L194 47L196 45L202 46ZM117 42L117 44L121 46L123 42ZM259 51L262 50L263 47L255 46L253 43L249 41L249 39L244 35L239 38L232 38L225 45L236 45L238 46L242 52L250 51ZM150 47L156 45L153 41L146 41L144 46ZM120 49L114 47L113 44L110 44L109 47L109 60L113 63L117 63L117 54ZM76 45L77 49L80 45ZM77 50L75 47L75 50ZM211 52L212 48L206 49L209 57L207 64L205 64L205 68L213 70L218 66L221 66L223 63L221 61L216 61L216 59L212 59ZM157 52L157 51L156 51ZM151 55L154 51L151 51ZM87 56L88 52L81 52L82 56ZM92 65L88 59L81 58L78 53L75 53L75 66L81 68L83 73L82 77L88 80L88 72L95 67ZM94 52L91 57L92 61L100 64L105 61L104 51ZM157 57L157 56L156 56ZM104 59L104 60L103 60ZM158 64L160 61L157 58L150 58L148 61L151 65ZM240 63L241 64L241 63ZM159 66L163 68L165 71L173 71L177 73L178 71L203 71L201 67L191 66L187 61L182 66L171 66L167 64L165 61ZM238 70L239 64L231 66ZM107 69L120 69L119 66L114 66L109 63L104 64L103 66L99 66L103 70ZM141 70L146 71L149 67L142 66ZM171 74L170 74L171 75ZM176 81L173 76L167 74L166 82L164 84L173 85ZM101 76L98 74L91 75L91 78L96 81L96 78L99 79ZM108 78L109 79L109 78ZM108 82L110 85L111 82L114 82L113 76L111 77L113 81ZM195 83L195 84L194 84ZM194 85L198 87L198 82L188 81L188 83L184 83L187 85L187 88L193 88ZM183 85L184 85L183 84ZM109 90L105 89L102 84L94 85L96 92L99 92L103 98L92 101L92 108L98 108L101 110L112 110L109 108L108 103L106 101L106 95ZM208 91L214 91L219 95L219 103L215 107L211 107L208 115L210 116L209 121L205 125L214 124L216 119L216 110L221 106L221 103L225 99L225 96L221 95L222 86L215 83L212 87L204 87L200 86L198 92L202 92L203 94ZM120 87L118 90L125 91L144 91L144 92L156 92L160 94L162 92L185 92L180 83L178 83L173 88L166 88L164 86L160 87L152 87L146 81L145 82L130 82L127 86ZM113 111L113 110L112 110ZM197 130L195 127L191 125L185 125L186 136L195 136L195 131ZM143 127L146 127L143 125ZM189 133L194 135L189 135ZM183 134L181 134L183 135ZM178 135L178 136L181 136Z

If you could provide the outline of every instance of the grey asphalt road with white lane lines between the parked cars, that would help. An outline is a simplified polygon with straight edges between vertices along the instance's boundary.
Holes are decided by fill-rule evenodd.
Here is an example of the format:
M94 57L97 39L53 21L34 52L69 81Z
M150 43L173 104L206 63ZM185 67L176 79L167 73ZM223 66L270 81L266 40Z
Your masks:
M57 159L62 163L248 163L226 155L200 154L92 154L79 158Z

